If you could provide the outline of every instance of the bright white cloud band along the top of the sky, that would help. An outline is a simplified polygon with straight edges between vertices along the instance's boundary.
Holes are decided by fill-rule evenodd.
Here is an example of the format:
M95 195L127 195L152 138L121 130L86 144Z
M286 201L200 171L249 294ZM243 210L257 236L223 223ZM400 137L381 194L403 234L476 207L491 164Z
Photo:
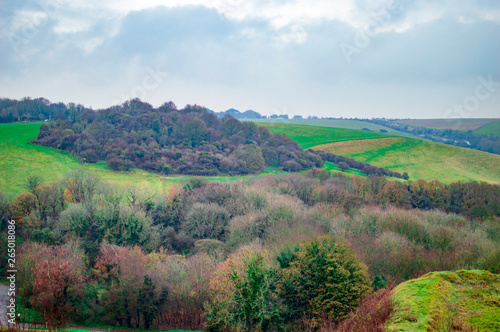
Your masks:
M8 34L24 33L31 26L55 22L56 34L75 34L89 31L106 22L112 31L99 38L112 38L123 18L134 11L158 6L174 8L204 6L217 10L230 20L259 20L271 29L271 38L285 43L302 43L307 39L309 26L322 21L339 21L356 30L370 30L373 34L404 33L419 25L455 15L462 23L486 20L500 23L500 10L481 8L474 2L405 2L394 0L35 0L14 12ZM52 4L52 5L50 5ZM55 5L54 5L55 4ZM382 14L381 14L382 13ZM258 35L253 32L251 35ZM95 45L95 36L85 42L89 52ZM89 47L88 45L94 45Z

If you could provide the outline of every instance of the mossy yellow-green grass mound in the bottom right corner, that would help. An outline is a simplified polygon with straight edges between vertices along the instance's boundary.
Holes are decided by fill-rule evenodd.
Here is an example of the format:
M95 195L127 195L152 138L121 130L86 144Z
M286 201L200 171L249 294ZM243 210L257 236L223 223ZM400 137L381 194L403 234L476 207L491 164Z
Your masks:
M500 331L500 275L431 272L394 289L388 331Z

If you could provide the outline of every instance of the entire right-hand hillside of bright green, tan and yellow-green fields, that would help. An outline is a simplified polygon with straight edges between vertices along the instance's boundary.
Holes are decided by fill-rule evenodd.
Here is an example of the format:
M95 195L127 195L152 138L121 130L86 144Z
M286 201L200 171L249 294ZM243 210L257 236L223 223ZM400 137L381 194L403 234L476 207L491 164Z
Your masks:
M312 147L370 163L412 180L485 181L500 183L500 156L451 145L375 133L299 125L269 125L271 132L286 134L303 148ZM364 137L364 135L373 135ZM321 137L317 137L321 136ZM315 142L330 140L332 143Z

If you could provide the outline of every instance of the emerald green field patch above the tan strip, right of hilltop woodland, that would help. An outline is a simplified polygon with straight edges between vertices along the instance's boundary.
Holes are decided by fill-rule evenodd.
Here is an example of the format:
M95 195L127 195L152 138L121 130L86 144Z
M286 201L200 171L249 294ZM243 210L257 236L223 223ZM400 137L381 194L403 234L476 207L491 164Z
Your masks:
M393 137L393 135L345 128L304 126L284 123L258 123L258 125L269 128L269 131L273 134L285 134L296 141L302 149L333 142Z

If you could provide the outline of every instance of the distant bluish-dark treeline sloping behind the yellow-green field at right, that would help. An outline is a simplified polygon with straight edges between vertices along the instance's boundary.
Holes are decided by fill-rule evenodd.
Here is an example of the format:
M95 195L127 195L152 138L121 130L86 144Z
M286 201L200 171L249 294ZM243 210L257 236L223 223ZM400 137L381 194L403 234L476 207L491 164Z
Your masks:
M452 129L432 129L412 127L403 123L388 120L362 120L396 129L405 133L427 138L434 142L460 146L489 153L500 154L500 137L495 135L478 135L472 132L462 132Z

